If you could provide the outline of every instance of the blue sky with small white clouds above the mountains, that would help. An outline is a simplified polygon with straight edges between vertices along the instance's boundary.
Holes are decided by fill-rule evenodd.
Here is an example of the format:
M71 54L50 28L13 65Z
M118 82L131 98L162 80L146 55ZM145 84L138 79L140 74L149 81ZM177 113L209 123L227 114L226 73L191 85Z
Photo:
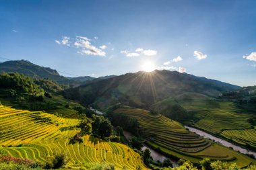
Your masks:
M0 57L94 77L151 62L256 85L255 9L254 0L0 0Z

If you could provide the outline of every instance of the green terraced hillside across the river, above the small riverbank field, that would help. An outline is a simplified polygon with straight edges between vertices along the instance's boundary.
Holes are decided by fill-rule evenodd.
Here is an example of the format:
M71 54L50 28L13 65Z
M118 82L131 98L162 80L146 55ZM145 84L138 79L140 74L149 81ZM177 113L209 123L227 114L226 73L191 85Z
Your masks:
M256 118L243 113L232 102L216 101L196 93L187 93L175 100L186 110L195 112L192 126L213 134L220 134L223 130L250 129L249 118Z

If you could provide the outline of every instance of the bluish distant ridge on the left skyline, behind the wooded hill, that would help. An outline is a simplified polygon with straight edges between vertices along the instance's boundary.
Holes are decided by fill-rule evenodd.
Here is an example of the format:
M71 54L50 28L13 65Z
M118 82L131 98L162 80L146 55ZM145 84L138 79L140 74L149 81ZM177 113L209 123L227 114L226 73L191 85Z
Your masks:
M0 62L0 73L3 73L3 72L6 72L6 73L17 72L35 79L48 78L48 79L52 79L53 81L56 81L57 83L71 85L71 86L74 86L74 85L77 86L84 83L88 83L90 81L96 82L102 79L115 77L115 75L98 77L98 78L90 77L90 76L64 77L59 75L59 73L56 70L53 70L49 67L41 67L41 66L35 65L28 60L11 60L6 62Z

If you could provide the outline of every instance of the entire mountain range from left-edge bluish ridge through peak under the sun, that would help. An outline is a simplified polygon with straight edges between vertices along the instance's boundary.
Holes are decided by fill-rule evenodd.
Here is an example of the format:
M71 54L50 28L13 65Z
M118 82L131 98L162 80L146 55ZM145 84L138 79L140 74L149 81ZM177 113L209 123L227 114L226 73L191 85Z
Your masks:
M125 75L105 77L64 77L56 70L40 67L27 60L0 62L0 73L18 72L32 78L48 78L57 83L70 85L65 96L97 108L108 108L121 103L138 108L150 108L158 101L183 93L199 93L216 97L226 91L241 87L221 81L196 77L177 71L139 71Z

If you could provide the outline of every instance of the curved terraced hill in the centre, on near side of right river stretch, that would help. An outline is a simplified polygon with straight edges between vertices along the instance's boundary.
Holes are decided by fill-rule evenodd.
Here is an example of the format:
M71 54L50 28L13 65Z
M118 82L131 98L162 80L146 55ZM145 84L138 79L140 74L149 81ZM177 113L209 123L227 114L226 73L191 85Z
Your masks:
M143 130L143 138L148 140L146 143L166 155L174 155L194 163L199 163L201 159L208 157L212 160L232 161L239 167L245 167L253 161L230 148L189 132L179 122L170 120L161 114L150 114L146 110L133 108L119 108L115 112L137 119Z

